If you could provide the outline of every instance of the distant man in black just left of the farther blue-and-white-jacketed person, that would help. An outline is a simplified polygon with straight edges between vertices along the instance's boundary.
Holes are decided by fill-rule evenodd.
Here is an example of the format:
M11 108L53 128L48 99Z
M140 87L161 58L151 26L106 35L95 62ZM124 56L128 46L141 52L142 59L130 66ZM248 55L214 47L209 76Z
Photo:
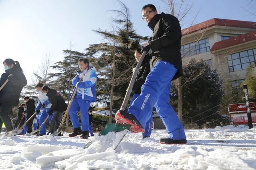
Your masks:
M35 100L30 99L28 96L24 97L24 101L26 102L26 111L27 114L27 120L36 112L36 106L35 106ZM34 116L35 117L35 116ZM32 125L33 125L33 119L30 119L27 123L27 135L30 135L32 132Z

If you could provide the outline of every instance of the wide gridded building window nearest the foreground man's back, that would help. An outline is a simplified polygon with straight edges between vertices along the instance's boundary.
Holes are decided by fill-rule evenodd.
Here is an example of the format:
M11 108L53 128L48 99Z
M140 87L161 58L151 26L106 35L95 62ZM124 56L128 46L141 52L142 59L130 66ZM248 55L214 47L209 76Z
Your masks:
M182 45L180 49L182 57L198 55L201 53L206 53L208 51L210 51L210 44L208 38Z

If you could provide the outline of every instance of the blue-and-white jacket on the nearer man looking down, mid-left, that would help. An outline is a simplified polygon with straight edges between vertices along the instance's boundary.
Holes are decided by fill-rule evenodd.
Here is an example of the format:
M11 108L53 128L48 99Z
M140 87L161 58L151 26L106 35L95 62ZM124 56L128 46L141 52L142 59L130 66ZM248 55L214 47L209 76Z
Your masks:
M83 80L77 85L78 90L76 95L81 97L83 100L89 100L91 102L96 102L96 81L97 81L97 74L94 66L88 66L86 70L83 72L79 71L77 75L72 79L73 86L79 82L79 74L83 73ZM76 88L74 88L75 90ZM70 96L72 98L74 94L74 90Z

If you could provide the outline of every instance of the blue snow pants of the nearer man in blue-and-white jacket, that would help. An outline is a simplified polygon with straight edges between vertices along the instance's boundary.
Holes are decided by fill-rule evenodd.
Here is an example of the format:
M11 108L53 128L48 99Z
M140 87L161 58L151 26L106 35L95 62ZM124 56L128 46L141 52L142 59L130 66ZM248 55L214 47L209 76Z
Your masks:
M74 100L69 109L70 120L72 122L73 128L80 127L79 118L77 112L80 110L80 115L82 119L82 131L89 130L89 117L88 109L90 107L91 101L83 100L82 96L75 96Z

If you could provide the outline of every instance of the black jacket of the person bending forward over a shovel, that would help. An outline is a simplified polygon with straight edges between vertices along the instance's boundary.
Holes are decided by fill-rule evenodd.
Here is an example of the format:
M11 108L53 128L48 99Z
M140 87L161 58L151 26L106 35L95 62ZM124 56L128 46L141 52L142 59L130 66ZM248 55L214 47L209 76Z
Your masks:
M46 96L48 96L49 101L52 104L50 110L48 111L49 114L52 114L53 111L66 111L67 105L65 100L56 90L50 89Z

